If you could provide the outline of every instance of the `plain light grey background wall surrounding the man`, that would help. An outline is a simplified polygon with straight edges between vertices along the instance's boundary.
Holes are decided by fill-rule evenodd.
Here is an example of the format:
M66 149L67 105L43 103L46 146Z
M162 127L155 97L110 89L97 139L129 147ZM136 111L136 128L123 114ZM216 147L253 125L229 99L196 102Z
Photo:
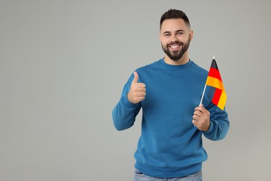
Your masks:
M136 68L163 57L159 20L190 18L190 58L215 54L231 127L204 139L204 180L271 180L271 1L0 1L0 180L132 180L134 127L111 111Z

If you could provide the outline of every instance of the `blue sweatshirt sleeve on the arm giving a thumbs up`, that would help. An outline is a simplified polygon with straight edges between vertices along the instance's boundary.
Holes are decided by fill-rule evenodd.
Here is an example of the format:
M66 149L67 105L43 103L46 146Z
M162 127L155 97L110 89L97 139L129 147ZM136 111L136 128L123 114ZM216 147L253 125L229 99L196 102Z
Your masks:
M125 84L120 101L112 111L112 118L114 126L117 130L128 129L133 126L136 120L136 116L141 109L141 103L133 104L129 102L127 98L127 93L129 92L131 81L133 80L133 75L130 77L129 81Z

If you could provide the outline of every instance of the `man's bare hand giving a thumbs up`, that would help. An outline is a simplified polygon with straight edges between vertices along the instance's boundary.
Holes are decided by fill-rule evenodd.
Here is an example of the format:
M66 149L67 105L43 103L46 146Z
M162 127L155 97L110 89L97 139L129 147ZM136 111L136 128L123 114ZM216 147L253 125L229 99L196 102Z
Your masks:
M136 104L142 100L145 100L146 86L143 83L138 83L138 73L133 72L133 81L131 83L130 91L127 94L128 100Z

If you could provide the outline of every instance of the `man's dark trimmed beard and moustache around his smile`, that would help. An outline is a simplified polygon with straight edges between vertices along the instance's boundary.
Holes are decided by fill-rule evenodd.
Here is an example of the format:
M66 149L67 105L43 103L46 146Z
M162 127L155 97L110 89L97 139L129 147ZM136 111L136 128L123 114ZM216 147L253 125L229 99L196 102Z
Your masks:
M174 44L181 45L182 48L180 50L171 51L169 47L170 45L174 45ZM190 38L188 38L188 40L185 43L175 41L175 42L170 42L166 46L162 45L162 49L165 52L165 54L167 54L167 56L170 57L170 59L172 59L172 61L179 61L181 57L183 57L183 54L186 53L186 51L188 50L189 45L190 45Z

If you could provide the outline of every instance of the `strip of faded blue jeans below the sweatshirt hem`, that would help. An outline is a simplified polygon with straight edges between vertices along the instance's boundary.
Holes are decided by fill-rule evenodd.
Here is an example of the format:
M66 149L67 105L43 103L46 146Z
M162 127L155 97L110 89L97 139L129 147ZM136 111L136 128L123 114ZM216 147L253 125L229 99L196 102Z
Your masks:
M133 181L202 181L202 171L182 178L153 178L136 169Z

